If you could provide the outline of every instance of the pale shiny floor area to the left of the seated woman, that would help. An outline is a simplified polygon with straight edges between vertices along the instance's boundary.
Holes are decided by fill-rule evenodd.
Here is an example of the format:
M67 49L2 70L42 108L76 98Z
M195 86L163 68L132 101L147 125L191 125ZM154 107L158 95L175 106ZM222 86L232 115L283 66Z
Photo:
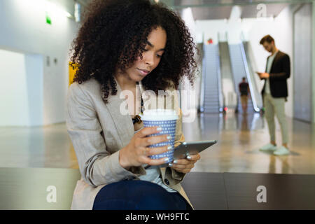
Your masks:
M1 167L78 168L64 123L0 128Z

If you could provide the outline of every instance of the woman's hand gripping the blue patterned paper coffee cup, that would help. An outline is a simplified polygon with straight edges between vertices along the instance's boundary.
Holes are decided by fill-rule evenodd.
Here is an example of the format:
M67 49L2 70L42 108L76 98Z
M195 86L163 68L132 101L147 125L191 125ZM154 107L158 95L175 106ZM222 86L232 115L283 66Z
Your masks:
M161 158L159 160L148 158L149 155L157 155L172 150L170 146L156 148L148 147L163 141L169 141L171 137L167 138L167 134L146 137L149 134L157 134L161 130L162 129L158 129L158 127L144 127L142 130L134 134L130 143L119 152L120 165L125 169L129 169L130 167L139 167L144 164L157 166L168 162L168 160L166 160L167 158Z

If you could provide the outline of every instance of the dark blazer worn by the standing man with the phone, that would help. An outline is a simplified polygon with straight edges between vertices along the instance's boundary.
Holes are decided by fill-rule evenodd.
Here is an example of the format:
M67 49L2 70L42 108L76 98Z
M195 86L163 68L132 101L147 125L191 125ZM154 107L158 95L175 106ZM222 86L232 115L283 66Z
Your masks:
M288 85L286 83L286 79L290 77L290 57L286 53L281 52L280 50L276 53L276 57L274 57L269 74L270 92L272 97L288 97ZM266 81L264 87L262 88L262 97L265 93L265 86Z

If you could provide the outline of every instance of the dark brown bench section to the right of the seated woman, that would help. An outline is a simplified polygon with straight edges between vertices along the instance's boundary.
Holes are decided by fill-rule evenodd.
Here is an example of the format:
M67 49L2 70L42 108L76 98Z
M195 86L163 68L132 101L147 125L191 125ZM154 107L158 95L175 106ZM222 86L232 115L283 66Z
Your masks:
M198 210L315 209L315 175L193 172L182 186ZM258 202L258 186L267 202Z

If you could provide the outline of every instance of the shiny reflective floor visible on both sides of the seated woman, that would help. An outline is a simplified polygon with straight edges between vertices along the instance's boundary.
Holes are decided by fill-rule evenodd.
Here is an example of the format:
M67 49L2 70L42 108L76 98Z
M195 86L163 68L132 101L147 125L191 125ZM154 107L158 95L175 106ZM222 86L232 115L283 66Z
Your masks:
M274 156L258 148L269 142L267 123L258 113L202 114L183 123L186 141L216 139L200 153L195 172L315 174L315 127L288 118L290 155ZM281 132L276 123L276 140ZM64 123L46 127L1 127L0 167L78 168Z

